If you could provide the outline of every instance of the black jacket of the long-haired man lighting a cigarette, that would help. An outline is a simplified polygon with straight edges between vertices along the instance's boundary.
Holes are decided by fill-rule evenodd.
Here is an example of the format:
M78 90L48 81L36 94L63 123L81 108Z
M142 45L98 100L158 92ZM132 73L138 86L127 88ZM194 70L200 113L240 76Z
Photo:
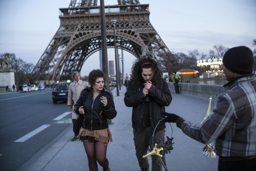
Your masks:
M164 79L161 80L159 87L152 84L149 93L144 97L144 83L138 86L132 86L129 82L127 91L124 95L124 103L127 107L132 107L132 127L140 131L142 130L142 120L145 111L145 102L150 102L150 124L152 132L155 129L160 118L163 118L161 112L165 111L165 106L169 106L172 101L172 95L168 88L168 84ZM165 129L165 123L160 123L156 128L156 132Z

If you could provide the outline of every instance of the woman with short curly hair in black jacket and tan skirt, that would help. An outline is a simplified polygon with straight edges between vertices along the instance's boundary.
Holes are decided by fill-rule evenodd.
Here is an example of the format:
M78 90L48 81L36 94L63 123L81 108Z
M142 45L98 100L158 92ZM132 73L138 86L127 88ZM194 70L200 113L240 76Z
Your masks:
M76 113L84 116L77 139L83 142L90 171L98 170L97 162L103 167L103 171L110 171L106 151L108 142L112 142L112 135L107 119L116 116L113 95L103 88L103 71L92 70L88 81L92 86L82 90L75 104Z

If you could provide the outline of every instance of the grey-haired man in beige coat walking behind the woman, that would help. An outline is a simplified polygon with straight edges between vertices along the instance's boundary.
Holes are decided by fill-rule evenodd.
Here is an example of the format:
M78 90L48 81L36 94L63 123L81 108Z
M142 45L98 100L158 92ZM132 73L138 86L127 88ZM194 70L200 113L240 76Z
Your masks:
M76 121L76 119L78 118L78 114L76 114L76 112L74 111L74 105L76 104L81 91L84 88L89 87L87 82L80 80L80 77L81 77L81 75L79 72L75 71L72 73L72 78L75 81L69 85L69 90L68 90L68 108L69 108L69 110L72 110L73 124ZM77 137L75 135L71 139L71 141L75 141L76 139L77 139Z

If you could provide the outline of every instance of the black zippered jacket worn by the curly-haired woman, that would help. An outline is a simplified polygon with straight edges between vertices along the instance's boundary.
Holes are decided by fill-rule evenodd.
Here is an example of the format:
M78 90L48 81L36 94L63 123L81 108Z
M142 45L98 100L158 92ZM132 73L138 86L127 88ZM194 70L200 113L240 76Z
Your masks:
M75 104L75 112L79 115L79 107L83 106L83 99L86 91L89 91L89 94L84 103L84 121L82 128L87 130L102 130L108 128L107 119L113 119L116 116L113 95L103 88L93 102L92 88L87 87L83 89ZM108 100L108 104L105 107L100 101L102 96L107 97Z

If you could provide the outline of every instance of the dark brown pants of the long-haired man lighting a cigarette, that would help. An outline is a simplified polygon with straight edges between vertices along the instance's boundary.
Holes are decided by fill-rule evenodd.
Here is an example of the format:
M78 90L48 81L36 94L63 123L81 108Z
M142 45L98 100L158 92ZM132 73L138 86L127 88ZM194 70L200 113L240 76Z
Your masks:
M153 147L155 147L155 144L160 143L160 138L164 142L164 132L165 129L155 132L154 134L154 145L152 144L152 138L153 138L153 132L151 130L151 127L145 127L140 132L133 129L134 133L134 145L136 150L136 157L139 162L139 166L142 170L148 170L149 164L147 157L142 158L143 155L146 155L149 153L148 146L150 146L150 150L153 150ZM156 156L151 156L152 158L152 170L154 171L162 171L162 164L158 161L156 162Z

